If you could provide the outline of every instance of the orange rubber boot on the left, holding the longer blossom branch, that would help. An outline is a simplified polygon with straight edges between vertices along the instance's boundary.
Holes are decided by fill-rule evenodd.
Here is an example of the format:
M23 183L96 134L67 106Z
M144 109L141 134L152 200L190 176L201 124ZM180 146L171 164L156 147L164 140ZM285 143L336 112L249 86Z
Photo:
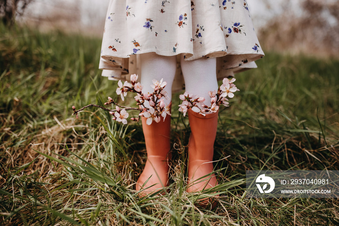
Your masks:
M170 107L171 104L169 105ZM151 125L146 124L145 117L141 117L141 121L145 136L147 161L137 181L136 190L145 189L142 195L146 195L168 186L170 169L168 163L170 151L170 115L166 116L165 121L161 117L160 122L153 122ZM146 181L147 183L143 185Z

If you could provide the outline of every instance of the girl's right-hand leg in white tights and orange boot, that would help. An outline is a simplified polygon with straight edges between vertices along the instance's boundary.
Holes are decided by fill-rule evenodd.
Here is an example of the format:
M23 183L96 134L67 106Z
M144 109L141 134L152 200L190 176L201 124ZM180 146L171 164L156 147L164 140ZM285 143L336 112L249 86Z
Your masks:
M216 59L181 60L181 67L188 93L205 97L206 105L211 105L209 91L217 90ZM187 192L202 191L217 185L213 171L214 141L217 127L216 113L206 114L188 111L191 135L188 143L188 188ZM198 178L204 177L197 181Z

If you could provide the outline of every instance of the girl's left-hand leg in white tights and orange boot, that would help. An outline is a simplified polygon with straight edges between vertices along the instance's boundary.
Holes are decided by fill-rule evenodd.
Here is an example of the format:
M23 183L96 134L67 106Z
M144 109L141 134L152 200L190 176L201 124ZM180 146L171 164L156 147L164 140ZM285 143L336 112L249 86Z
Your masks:
M154 90L150 86L153 84L153 79L157 81L164 79L163 81L167 82L165 91L167 91L169 96L167 104L170 104L171 87L175 70L175 56L166 57L157 55L155 53L143 54L141 57L140 81L140 83L143 85L143 93L153 93ZM145 136L147 161L145 168L137 181L136 190L139 191L145 189L143 194L148 194L164 188L168 183L170 116L167 116L165 121L161 119L159 123L153 122L151 125L146 124L146 119L144 117L141 117L141 121L142 130ZM145 183L146 181L147 183Z

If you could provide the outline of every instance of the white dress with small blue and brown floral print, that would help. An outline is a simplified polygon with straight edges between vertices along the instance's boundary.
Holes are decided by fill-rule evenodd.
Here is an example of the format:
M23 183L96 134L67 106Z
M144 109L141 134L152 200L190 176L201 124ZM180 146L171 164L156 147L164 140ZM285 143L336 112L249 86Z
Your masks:
M218 79L255 68L254 61L264 55L246 0L110 0L102 75L110 80L142 76L138 58L147 52L183 54L187 61L216 57ZM173 91L182 88L178 64Z

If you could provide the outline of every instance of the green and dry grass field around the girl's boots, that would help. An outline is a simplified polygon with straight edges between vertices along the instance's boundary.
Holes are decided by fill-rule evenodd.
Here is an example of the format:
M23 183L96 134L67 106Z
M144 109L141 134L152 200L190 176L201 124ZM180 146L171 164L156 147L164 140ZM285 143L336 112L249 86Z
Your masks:
M337 199L243 197L249 169L339 170L338 59L266 53L236 77L241 91L222 108L215 143L219 206L201 210L185 192L190 129L179 94L169 190L140 198L141 124L97 109L72 116L72 105L117 100L116 83L97 69L101 40L2 25L0 33L1 225L339 224Z

